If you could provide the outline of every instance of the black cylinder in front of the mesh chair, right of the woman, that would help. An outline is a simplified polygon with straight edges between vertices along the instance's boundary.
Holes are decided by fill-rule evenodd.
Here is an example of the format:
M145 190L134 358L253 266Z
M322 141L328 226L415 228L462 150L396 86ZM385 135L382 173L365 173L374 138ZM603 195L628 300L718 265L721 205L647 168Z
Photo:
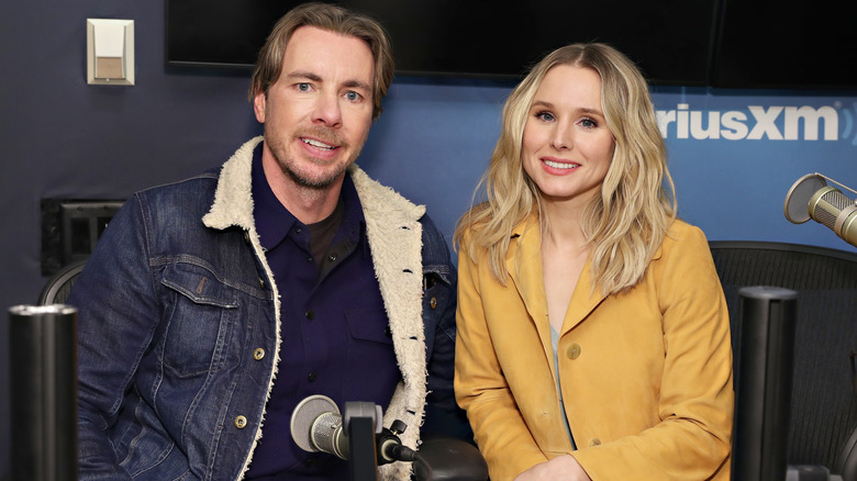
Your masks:
M732 479L782 481L788 467L798 293L749 287L738 295Z

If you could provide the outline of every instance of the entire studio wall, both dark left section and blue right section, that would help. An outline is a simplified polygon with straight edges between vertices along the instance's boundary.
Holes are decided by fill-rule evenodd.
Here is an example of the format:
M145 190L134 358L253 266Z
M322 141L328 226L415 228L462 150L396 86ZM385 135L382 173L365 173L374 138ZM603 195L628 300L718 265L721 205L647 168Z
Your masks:
M247 72L164 66L163 9L158 1L0 2L0 305L33 303L45 281L41 199L124 199L219 165L260 133L245 100ZM86 83L87 18L135 21L136 86ZM449 236L487 165L509 90L503 82L397 79L359 164L427 204ZM788 223L782 203L789 187L812 171L857 187L857 92L653 92L664 119L675 119L665 124L665 135L680 214L709 238L854 249L820 224ZM805 139L802 124L795 139L776 139L790 132L788 108L804 105L827 113L827 120L811 122L819 125L819 139ZM712 125L719 127L708 128L717 112ZM690 122L695 115L704 120ZM836 124L827 139L826 123ZM704 135L697 131L719 138L698 138ZM4 394L14 339L5 326L0 333L0 418L9 420L0 427L4 480L8 429L16 426Z

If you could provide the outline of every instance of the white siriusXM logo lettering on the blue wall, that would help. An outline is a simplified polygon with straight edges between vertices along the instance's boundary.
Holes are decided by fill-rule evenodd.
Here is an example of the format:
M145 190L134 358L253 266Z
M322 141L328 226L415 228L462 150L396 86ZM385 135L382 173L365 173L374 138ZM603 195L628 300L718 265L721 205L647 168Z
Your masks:
M839 115L833 107L748 105L749 112L731 110L690 110L679 103L677 110L658 110L657 121L664 138L727 141L836 141ZM820 138L821 133L821 138Z

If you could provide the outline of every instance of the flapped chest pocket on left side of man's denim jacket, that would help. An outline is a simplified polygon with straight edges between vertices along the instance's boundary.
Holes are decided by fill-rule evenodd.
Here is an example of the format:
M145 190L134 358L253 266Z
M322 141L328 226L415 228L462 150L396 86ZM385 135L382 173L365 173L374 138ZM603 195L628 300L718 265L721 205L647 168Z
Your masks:
M166 367L179 377L221 369L238 317L237 291L193 264L167 266L162 283L172 292L164 336Z

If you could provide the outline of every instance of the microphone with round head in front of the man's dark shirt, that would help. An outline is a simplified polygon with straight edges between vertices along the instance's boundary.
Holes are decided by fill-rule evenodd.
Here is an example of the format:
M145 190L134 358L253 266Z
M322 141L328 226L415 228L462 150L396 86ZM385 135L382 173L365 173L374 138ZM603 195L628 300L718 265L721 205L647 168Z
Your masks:
M390 429L382 428L381 418L381 406L375 404L377 465L413 461L415 451L403 446L398 436L404 433L405 424L397 420ZM336 403L325 395L314 394L299 402L291 413L290 428L292 439L304 451L327 452L344 460L350 457L347 426Z

